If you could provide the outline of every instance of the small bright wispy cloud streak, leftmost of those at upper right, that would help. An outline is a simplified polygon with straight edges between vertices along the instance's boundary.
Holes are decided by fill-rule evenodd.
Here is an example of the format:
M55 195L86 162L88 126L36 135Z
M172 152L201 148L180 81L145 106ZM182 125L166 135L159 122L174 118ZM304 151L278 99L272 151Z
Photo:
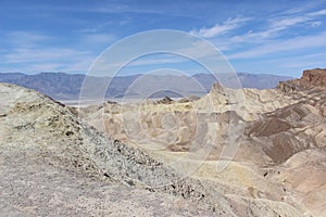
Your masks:
M198 35L204 38L213 38L220 35L227 34L240 27L244 22L249 20L249 17L228 18L223 24L216 24L211 28L203 27L199 30L191 30L190 34Z

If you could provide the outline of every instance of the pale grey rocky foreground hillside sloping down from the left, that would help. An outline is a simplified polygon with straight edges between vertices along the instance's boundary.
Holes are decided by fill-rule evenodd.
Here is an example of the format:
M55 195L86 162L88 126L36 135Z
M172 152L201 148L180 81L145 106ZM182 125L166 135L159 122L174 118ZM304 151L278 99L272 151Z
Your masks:
M162 155L111 139L34 90L0 84L0 98L1 215L300 216L269 195L181 176Z

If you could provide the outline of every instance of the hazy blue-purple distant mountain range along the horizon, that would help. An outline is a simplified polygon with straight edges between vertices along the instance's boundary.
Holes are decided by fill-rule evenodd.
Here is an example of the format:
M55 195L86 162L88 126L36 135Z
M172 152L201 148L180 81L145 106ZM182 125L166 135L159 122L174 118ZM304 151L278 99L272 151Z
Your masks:
M26 75L23 73L0 73L0 82L10 82L26 88L35 89L55 100L77 100L86 75L65 73L40 73ZM292 77L238 73L237 76L218 74L220 82L226 87L239 88L240 81L243 88L271 89L279 81L293 79ZM177 75L133 75L123 77L87 77L91 90L104 87L109 84L106 98L139 97L150 91L147 97L189 97L202 95L209 92L212 85L217 82L212 74L196 74L189 76ZM193 80L200 88L193 88ZM160 91L158 91L160 90ZM90 94L92 95L92 94Z

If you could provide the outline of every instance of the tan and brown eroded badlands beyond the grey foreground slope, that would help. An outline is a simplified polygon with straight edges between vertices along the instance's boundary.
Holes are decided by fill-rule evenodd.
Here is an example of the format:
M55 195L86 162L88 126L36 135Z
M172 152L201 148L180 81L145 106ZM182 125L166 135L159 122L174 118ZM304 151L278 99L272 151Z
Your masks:
M150 150L166 164L183 156L173 164L178 173L191 174L228 197L286 202L305 216L324 216L325 80L325 69L313 69L276 89L214 85L195 101L104 103L83 108L79 115L100 131ZM228 156L224 148L230 143L239 146L234 161L216 173L216 163ZM200 166L193 158L200 159Z

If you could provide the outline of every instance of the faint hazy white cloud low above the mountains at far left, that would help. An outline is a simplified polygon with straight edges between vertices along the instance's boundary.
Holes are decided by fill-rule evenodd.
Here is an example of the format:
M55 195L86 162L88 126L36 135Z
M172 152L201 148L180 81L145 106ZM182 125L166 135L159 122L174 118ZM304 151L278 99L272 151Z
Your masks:
M4 35L7 46L0 53L2 61L1 71L10 72L10 66L15 71L79 71L85 72L96 60L90 51L70 48L61 44L53 47L59 40L53 36L33 31L11 31ZM79 38L80 39L80 38ZM112 41L113 37L105 34L91 34L82 37L83 44L105 43Z

